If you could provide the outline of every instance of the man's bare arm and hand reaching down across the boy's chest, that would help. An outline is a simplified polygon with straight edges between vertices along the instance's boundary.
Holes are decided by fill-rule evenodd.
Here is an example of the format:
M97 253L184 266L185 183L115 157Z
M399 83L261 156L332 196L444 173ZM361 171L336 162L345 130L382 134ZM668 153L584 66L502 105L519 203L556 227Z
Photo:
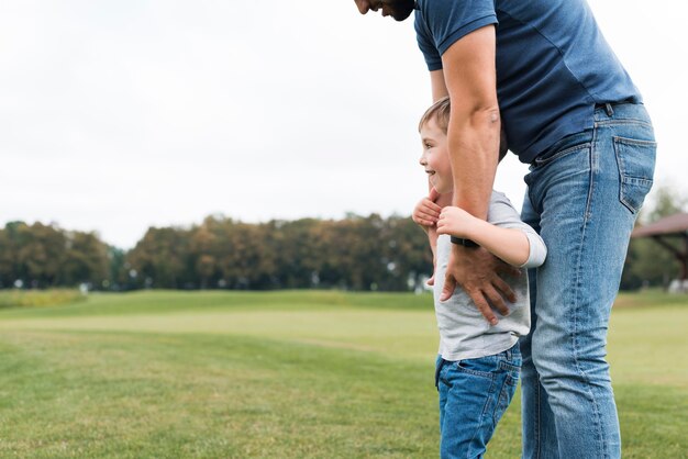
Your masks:
M462 37L442 56L444 83L452 100L447 137L453 203L481 220L487 217L500 137L495 55L495 27L489 25ZM441 93L441 85L432 75L431 81L433 96ZM511 288L498 276L510 269L484 248L455 245L441 301L447 300L460 284L487 321L496 324L492 307L506 315L509 309L504 298L515 301Z

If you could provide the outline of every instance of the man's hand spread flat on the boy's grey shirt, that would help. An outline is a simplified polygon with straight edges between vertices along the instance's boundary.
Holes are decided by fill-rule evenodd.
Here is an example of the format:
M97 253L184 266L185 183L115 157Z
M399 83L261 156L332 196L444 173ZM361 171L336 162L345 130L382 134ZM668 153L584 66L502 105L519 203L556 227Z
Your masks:
M513 290L498 276L500 272L512 276L520 273L517 268L507 265L481 247L467 248L453 245L440 301L448 300L458 284L475 302L485 318L490 324L497 325L499 321L490 305L501 315L508 315L509 307L504 303L504 298L512 303L515 301Z

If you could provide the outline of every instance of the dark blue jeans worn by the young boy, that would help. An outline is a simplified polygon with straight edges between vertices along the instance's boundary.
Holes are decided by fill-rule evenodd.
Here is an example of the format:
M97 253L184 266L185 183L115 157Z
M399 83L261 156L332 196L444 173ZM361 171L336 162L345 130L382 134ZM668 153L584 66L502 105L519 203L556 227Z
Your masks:
M476 359L448 361L437 357L435 368L440 391L440 456L481 458L519 382L519 344Z

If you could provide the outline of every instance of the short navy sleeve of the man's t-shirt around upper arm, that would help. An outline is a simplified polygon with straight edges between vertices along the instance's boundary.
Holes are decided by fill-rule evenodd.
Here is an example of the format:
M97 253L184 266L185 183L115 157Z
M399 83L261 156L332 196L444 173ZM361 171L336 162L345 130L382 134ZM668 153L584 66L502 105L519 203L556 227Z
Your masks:
M428 69L441 69L442 55L456 41L497 23L495 0L425 0L415 12L414 25Z

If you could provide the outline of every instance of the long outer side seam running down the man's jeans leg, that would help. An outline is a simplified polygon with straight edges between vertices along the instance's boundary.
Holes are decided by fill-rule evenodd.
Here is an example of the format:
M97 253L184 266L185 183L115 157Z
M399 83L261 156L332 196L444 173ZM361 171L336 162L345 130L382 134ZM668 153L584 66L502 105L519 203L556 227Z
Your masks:
M582 227L581 227L581 232L580 232L580 245L578 247L578 259L576 261L576 292L574 295L574 329L572 333L572 338L573 338L573 350L574 350L574 362L576 363L576 370L578 371L580 378L582 379L586 389L587 389L587 393L590 398L590 401L592 402L592 406L595 408L595 427L597 430L597 436L598 436L598 450L601 449L603 457L608 457L607 451L604 450L604 441L602 441L602 432L601 432L601 423L600 423L600 411L599 411L599 406L597 404L597 401L595 399L595 394L592 393L591 389L590 389L590 380L588 378L588 376L586 374L586 372L582 370L582 368L580 367L580 360L578 358L579 352L578 352L578 314L580 313L580 292L581 292L581 280L580 280L580 272L581 272L581 259L582 259L582 251L585 249L585 242L586 242L586 233L587 233L587 228L588 228L588 224L591 220L591 213L590 213L590 209L592 208L592 199L593 199L593 192L595 192L595 182L596 182L596 175L598 173L597 167L598 167L598 160L596 157L597 154L597 134L598 134L598 127L599 127L599 123L595 123L595 128L592 131L592 143L591 143L591 148L590 148L590 183L589 183L589 189L588 189L588 202L586 203L586 212L585 212L585 219L582 222ZM599 448L599 446L601 445L601 448Z

